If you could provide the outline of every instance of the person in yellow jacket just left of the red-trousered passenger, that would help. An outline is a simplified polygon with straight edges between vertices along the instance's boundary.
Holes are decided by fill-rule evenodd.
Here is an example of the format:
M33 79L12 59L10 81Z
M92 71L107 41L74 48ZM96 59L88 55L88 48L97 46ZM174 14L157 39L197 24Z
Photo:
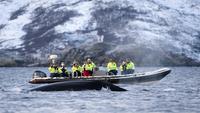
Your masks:
M74 62L72 66L72 74L74 77L81 76L82 67L78 64L78 62Z

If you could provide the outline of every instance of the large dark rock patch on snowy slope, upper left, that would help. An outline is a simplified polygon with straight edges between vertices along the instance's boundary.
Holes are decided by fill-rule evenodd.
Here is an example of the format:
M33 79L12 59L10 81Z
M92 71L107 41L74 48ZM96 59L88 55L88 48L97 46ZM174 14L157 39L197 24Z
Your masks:
M49 44L54 39L61 38L53 29L55 26L63 24L74 16L78 16L76 11L57 10L64 4L53 5L45 9L38 7L33 12L32 22L24 26L23 30L27 34L23 37L25 49L28 52L34 52L37 49Z

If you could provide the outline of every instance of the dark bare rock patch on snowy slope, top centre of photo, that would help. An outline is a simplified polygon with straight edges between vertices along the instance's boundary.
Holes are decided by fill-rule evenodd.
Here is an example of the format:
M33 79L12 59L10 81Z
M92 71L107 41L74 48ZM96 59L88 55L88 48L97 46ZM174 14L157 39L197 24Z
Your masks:
M92 13L93 19L97 22L98 35L103 35L105 42L118 42L119 39L113 31L124 28L128 21L134 20L140 14L145 14L145 12L137 12L133 7L118 5L99 7Z

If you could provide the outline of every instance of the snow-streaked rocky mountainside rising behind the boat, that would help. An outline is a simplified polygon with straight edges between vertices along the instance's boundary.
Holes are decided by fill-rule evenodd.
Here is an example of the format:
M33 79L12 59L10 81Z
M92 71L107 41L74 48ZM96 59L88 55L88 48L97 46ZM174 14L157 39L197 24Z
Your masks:
M199 0L0 0L0 66L134 59L200 66Z

